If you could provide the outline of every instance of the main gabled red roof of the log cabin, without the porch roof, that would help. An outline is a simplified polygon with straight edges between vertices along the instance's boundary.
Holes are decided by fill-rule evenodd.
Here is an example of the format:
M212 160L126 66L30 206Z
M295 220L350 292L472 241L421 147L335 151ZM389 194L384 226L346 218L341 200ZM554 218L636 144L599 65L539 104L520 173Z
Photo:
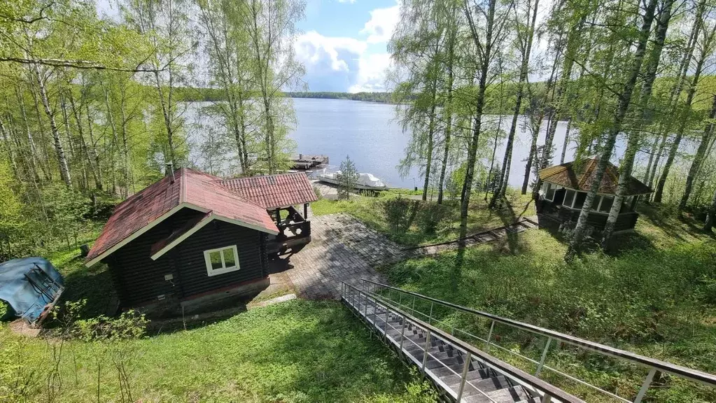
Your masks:
M224 188L220 181L221 178L213 175L180 168L175 171L173 183L167 176L135 193L117 205L86 262L96 263L98 258L105 257L102 255L112 253L112 248L119 248L125 240L138 236L140 231L150 228L148 225L180 205L239 221L239 225L249 228L278 233L266 208Z

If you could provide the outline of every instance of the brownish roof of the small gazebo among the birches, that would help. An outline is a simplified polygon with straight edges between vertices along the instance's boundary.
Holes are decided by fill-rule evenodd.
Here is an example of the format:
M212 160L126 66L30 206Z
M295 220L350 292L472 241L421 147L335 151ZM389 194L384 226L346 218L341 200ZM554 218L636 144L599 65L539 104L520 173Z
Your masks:
M579 164L576 164L575 161L565 162L561 165L554 165L540 170L539 178L544 182L561 185L565 188L589 192L598 164L599 158L597 157L586 158L581 160ZM610 162L606 166L606 172L604 172L604 177L601 178L597 193L613 195L616 193L617 185L619 185L619 168ZM644 185L641 181L629 177L626 195L644 195L653 191L652 188Z

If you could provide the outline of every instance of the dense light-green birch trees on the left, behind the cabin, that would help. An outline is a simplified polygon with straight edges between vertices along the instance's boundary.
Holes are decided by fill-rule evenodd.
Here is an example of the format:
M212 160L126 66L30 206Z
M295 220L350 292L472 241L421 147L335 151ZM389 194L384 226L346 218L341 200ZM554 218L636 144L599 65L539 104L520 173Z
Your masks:
M99 214L103 200L153 183L165 165L195 165L183 102L194 87L221 94L199 114L218 123L209 137L236 155L238 175L289 164L284 90L301 89L302 1L111 5L117 16L89 0L0 6L1 254L67 238L67 223Z

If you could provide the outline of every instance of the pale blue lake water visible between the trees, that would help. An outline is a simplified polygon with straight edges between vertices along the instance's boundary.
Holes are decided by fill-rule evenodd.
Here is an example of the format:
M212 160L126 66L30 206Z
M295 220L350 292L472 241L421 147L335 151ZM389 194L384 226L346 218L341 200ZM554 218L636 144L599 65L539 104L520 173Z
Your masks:
M199 107L203 103L195 102L187 110L186 117L192 121L200 117ZM417 169L411 170L409 175L402 178L397 169L400 159L405 155L405 147L410 139L409 132L403 132L400 122L395 118L395 105L385 105L374 102L352 101L348 99L294 99L294 108L298 125L290 133L296 141L296 152L303 154L328 155L331 165L339 165L347 155L354 160L359 172L376 175L392 187L413 188L422 187L422 175ZM487 116L488 125L497 125L499 117ZM523 129L524 118L521 118L516 132L513 148L513 160L510 170L509 184L521 187L524 180L525 160L529 155L531 135ZM203 122L206 125L206 122ZM506 132L511 124L510 116L503 116L501 127ZM543 122L538 144L543 144L546 132L546 122ZM566 132L566 122L558 122L553 141L553 161L559 162L562 143ZM193 144L202 141L202 131L194 132ZM577 132L572 127L570 137L576 137ZM617 163L623 154L622 142L616 146L612 162ZM574 156L574 142L566 153L566 161ZM504 155L504 140L500 142L495 160L502 164ZM481 162L489 167L491 147L480 155ZM640 154L637 163L646 157ZM192 160L202 166L198 155ZM645 163L644 163L645 165Z

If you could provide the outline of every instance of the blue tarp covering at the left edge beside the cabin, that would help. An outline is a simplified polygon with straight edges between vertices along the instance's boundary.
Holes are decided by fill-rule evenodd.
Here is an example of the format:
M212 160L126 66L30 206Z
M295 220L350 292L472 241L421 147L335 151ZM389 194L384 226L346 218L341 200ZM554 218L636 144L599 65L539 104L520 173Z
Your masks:
M34 324L64 290L62 275L44 258L21 258L0 263L0 299L17 316Z

